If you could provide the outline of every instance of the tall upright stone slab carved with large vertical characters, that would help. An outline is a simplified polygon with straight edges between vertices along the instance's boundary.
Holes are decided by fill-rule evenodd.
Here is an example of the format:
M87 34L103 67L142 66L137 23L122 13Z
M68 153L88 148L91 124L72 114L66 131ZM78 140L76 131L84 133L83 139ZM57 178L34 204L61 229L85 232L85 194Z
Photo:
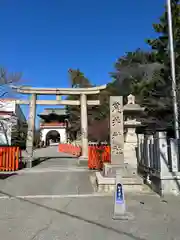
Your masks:
M110 97L111 164L124 164L123 97Z

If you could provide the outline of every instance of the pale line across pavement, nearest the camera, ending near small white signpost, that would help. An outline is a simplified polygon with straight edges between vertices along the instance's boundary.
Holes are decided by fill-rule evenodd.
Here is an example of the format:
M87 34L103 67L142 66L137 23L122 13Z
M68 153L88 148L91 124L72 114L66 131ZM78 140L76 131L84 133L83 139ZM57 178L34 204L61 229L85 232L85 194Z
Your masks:
M66 195L19 195L19 196L0 196L3 199L63 199L63 198L89 198L89 197L108 197L112 193L92 193L92 194L66 194Z

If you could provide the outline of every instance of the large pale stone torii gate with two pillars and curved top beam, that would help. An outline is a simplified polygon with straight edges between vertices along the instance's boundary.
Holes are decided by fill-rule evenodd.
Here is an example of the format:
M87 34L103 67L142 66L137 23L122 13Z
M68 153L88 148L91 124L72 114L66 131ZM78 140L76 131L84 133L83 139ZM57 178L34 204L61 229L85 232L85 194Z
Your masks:
M81 141L82 156L88 158L88 119L87 105L99 105L99 100L87 100L87 95L99 94L106 85L90 88L35 88L27 86L12 86L16 92L30 95L29 100L17 100L18 104L29 105L28 133L26 141L26 150L28 153L27 167L32 167L33 160L33 140L35 130L36 105L80 105L81 106ZM56 95L56 100L37 100L38 95ZM80 100L61 100L61 95L79 95Z

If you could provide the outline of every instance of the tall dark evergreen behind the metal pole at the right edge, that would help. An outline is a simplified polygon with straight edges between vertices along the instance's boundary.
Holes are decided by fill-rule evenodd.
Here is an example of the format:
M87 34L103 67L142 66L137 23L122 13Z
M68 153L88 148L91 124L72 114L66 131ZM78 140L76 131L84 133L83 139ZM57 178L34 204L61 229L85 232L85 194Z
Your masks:
M180 86L180 4L179 0L172 0L172 24L174 38L174 52L176 62L176 80L177 93ZM171 87L171 68L169 53L169 37L168 37L168 15L167 7L160 21L153 24L158 37L148 39L146 42L151 46L155 55L156 62L161 64L161 69L155 71L150 82L139 86L138 91L141 92L141 101L147 109L147 116L159 120L162 126L172 126L173 124L173 107L172 107L172 87ZM137 86L136 86L137 87Z

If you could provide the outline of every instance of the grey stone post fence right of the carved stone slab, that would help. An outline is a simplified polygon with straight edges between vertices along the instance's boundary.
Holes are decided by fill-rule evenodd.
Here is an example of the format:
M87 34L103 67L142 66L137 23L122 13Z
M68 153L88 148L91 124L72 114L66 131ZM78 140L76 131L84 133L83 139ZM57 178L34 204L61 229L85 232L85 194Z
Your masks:
M138 134L138 172L160 178L179 172L178 147L178 141L168 138L165 132Z

